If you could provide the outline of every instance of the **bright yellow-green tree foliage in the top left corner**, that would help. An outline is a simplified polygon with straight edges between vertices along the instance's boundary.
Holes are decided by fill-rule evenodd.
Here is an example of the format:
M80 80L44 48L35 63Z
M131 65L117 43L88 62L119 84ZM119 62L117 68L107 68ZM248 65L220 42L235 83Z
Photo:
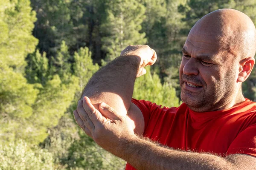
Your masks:
M16 71L23 71L24 58L34 52L38 43L31 35L36 21L35 11L31 10L29 0L0 3L0 59Z

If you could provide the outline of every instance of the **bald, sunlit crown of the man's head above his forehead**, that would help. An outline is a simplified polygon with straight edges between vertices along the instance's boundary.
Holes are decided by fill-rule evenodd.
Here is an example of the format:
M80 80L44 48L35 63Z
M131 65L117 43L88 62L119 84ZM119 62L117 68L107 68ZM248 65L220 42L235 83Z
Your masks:
M189 34L218 42L222 49L238 59L253 57L256 52L256 29L252 20L234 9L219 9L207 14Z

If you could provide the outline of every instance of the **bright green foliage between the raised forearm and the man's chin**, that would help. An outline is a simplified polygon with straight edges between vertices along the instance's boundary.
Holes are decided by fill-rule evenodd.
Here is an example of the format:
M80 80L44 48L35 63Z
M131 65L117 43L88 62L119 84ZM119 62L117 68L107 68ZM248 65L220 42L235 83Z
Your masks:
M146 67L147 74L136 79L134 84L135 99L144 99L167 107L177 107L180 102L175 88L168 83L163 85L157 74L151 75L150 67Z

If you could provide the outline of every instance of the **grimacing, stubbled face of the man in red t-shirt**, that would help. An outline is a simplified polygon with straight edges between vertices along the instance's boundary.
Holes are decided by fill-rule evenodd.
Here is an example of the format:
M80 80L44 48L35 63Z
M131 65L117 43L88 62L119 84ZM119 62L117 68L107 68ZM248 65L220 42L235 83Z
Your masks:
M238 65L220 41L191 31L183 46L180 96L193 111L221 109L237 91Z

